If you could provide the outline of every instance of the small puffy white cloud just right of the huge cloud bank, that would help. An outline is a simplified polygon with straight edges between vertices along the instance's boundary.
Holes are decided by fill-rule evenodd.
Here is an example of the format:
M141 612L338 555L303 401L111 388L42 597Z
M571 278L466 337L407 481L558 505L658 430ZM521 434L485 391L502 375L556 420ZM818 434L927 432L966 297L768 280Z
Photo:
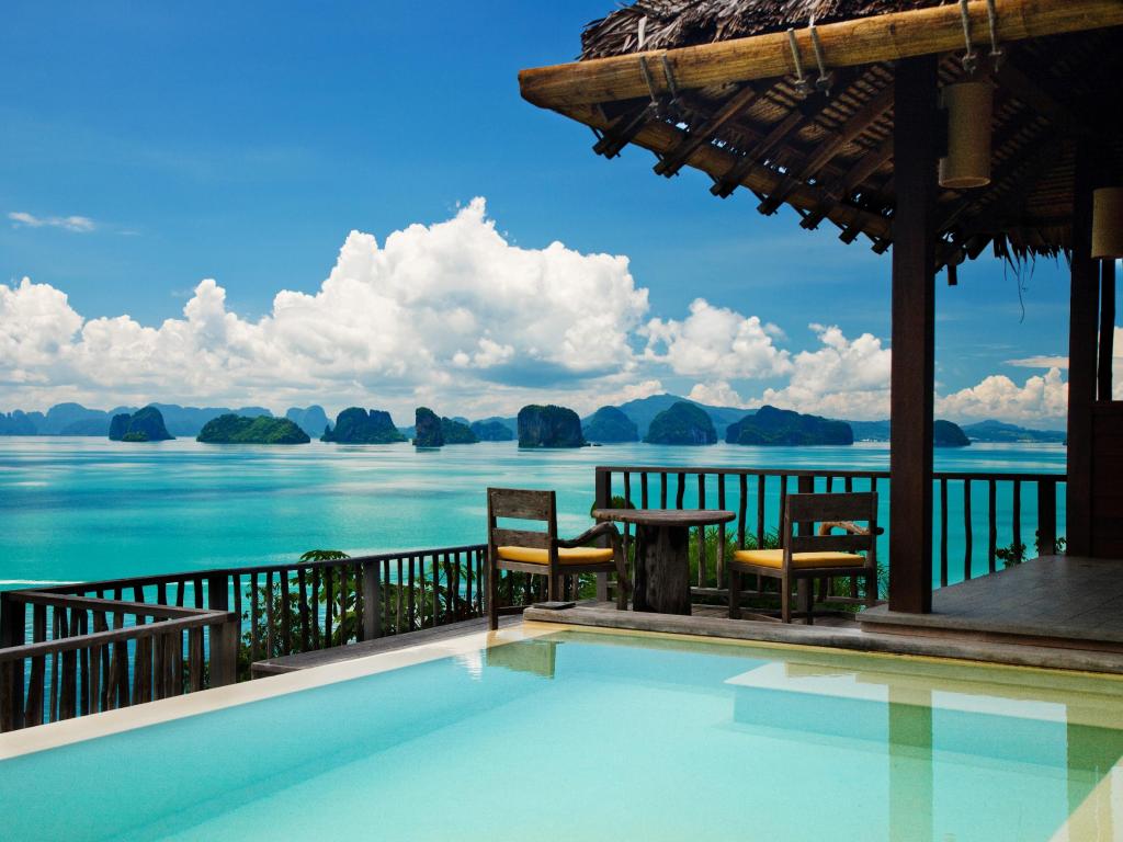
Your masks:
M775 324L713 306L705 299L691 302L685 320L651 319L645 332L645 358L670 366L675 374L728 379L792 370L788 351L775 345L774 340L783 336Z

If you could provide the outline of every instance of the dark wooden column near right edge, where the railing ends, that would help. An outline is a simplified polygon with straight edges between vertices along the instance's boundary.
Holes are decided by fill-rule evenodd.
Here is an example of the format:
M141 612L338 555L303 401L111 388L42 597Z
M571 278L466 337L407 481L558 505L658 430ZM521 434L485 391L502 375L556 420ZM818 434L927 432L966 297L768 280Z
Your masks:
M1093 138L1076 147L1072 195L1072 262L1068 328L1068 482L1065 537L1068 552L1092 551L1092 408L1096 400L1096 333L1099 262L1092 259L1092 191L1099 155Z

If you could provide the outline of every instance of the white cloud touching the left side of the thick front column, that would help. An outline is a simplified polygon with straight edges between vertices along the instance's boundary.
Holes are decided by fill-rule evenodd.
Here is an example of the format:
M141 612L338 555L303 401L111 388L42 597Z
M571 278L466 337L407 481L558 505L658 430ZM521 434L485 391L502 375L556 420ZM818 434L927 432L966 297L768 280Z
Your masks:
M850 340L836 326L810 328L821 347L795 355L788 384L765 390L754 403L832 418L888 418L889 349L871 333Z

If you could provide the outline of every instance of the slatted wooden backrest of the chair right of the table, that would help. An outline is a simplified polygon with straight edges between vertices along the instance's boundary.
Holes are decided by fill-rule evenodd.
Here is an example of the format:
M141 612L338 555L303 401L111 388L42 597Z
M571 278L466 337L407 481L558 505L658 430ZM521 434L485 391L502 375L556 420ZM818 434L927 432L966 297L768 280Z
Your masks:
M816 534L815 524L832 522L853 523L866 533ZM784 547L788 552L865 552L866 562L876 564L877 493L789 494Z

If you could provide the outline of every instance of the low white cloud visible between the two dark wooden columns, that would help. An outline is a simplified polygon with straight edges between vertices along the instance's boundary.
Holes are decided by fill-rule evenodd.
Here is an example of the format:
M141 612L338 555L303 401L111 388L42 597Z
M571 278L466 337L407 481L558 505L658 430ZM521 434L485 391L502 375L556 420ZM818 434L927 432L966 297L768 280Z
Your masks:
M1043 376L1029 377L1017 385L1010 377L996 374L969 388L937 399L937 413L953 420L997 418L1005 421L1041 427L1056 425L1068 411L1068 384L1060 368L1050 368Z

